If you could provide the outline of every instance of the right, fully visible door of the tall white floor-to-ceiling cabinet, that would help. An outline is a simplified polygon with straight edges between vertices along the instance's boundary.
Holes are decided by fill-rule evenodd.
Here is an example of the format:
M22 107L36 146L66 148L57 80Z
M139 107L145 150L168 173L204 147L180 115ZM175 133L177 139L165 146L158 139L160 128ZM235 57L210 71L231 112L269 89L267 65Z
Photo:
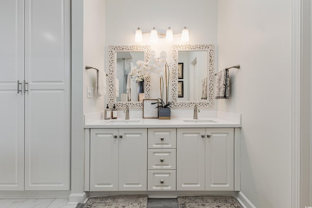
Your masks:
M70 0L25 0L25 190L70 188Z

